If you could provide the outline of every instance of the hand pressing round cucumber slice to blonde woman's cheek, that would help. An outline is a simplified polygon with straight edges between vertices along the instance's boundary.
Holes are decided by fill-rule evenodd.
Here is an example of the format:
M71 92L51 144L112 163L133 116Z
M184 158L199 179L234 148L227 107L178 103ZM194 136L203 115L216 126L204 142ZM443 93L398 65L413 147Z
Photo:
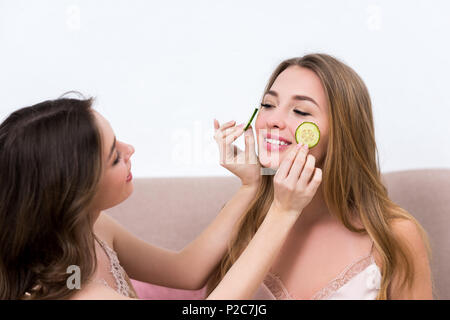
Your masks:
M322 170L315 168L315 158L305 145L297 144L286 155L273 178L273 211L296 220L311 202L322 182Z

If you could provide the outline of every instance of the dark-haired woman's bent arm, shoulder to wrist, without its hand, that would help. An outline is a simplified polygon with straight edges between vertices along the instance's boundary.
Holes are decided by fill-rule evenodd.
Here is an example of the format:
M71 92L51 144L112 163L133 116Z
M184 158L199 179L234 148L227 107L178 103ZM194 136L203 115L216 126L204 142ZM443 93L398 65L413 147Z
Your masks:
M132 279L160 286L197 290L227 250L235 223L255 197L257 186L242 185L213 222L180 251L154 246L139 239L115 219L101 213L98 224L112 234L114 250Z

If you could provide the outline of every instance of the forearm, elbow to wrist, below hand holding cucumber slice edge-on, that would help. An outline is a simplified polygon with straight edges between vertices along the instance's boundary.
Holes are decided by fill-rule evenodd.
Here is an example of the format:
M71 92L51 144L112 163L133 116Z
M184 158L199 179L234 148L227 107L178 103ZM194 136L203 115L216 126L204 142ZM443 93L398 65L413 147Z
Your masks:
M178 253L176 260L186 277L192 279L192 289L206 285L211 272L226 253L236 222L248 208L256 191L257 186L242 185L214 221Z

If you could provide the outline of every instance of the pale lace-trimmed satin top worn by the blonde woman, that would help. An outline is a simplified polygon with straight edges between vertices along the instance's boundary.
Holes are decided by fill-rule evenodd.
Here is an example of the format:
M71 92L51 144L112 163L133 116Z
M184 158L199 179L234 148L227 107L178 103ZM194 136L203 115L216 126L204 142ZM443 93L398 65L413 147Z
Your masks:
M325 287L316 292L311 300L373 300L378 294L381 283L381 272L373 256L369 255L357 259L348 265L339 275L332 279ZM264 279L263 286L277 300L296 300L284 286L280 277L269 272Z

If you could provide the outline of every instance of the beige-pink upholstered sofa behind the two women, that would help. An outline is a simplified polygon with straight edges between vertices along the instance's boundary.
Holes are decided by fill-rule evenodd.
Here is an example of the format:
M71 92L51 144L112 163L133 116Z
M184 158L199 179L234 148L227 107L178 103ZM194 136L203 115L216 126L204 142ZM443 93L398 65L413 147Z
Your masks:
M450 299L450 169L383 174L389 195L427 230L436 299ZM152 244L180 250L214 219L240 182L235 177L135 179L135 191L108 214ZM141 299L203 299L205 288L182 290L132 280ZM255 299L270 299L265 287Z

